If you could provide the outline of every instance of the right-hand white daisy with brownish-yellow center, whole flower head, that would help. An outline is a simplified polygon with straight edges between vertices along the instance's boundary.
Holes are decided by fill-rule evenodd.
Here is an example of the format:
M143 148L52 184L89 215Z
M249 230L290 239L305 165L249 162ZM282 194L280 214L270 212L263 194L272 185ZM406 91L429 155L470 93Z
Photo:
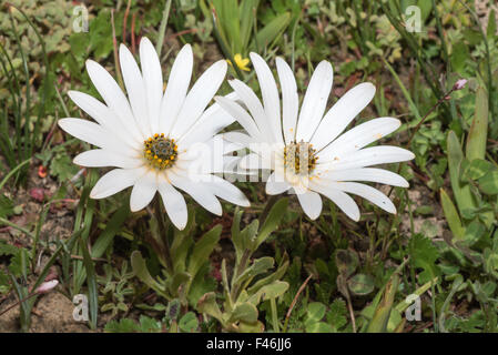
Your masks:
M252 151L241 159L240 166L270 170L266 193L296 193L301 206L312 220L322 212L321 194L354 221L359 220L359 209L348 194L362 196L387 212L396 213L395 205L384 193L358 181L408 186L400 175L369 166L411 160L415 158L411 152L388 145L366 148L397 130L399 120L375 119L342 134L374 98L375 87L372 83L356 85L325 113L333 69L329 62L322 61L313 73L298 112L294 74L288 64L277 58L281 114L278 90L271 69L256 53L251 53L251 60L263 103L240 80L232 80L230 84L247 111L228 98L215 98L247 133L224 134L224 139L243 142Z

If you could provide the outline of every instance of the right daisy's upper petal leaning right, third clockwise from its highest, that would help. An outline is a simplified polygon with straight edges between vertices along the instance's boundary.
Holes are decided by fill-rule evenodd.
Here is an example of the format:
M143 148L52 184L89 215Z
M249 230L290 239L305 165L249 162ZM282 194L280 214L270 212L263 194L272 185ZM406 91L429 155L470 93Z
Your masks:
M297 120L296 141L309 142L313 133L324 116L332 90L334 72L327 61L322 61L315 69L301 106Z

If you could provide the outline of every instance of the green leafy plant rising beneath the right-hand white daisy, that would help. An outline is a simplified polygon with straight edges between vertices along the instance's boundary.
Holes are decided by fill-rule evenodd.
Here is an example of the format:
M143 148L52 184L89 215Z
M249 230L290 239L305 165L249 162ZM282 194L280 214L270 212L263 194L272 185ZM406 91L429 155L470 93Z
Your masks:
M253 220L240 230L242 212L235 211L232 224L232 242L235 247L235 265L228 278L226 261L221 265L224 302L220 308L214 292L206 293L199 300L197 311L216 318L222 328L228 332L263 332L264 324L258 320L257 306L270 302L272 325L275 332L282 328L277 317L276 302L288 288L288 283L281 281L288 260L283 257L276 271L274 260L270 256L256 258L251 256L258 246L274 232L287 209L287 200L281 199L270 211L260 229L260 221Z

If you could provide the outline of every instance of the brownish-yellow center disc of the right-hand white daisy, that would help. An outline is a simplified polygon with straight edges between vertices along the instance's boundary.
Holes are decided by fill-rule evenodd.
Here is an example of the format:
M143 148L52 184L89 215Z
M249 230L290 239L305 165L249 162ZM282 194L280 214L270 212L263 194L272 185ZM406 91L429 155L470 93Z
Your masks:
M316 150L307 142L292 142L284 149L285 169L301 175L311 173L315 169L316 161L318 160L315 153Z

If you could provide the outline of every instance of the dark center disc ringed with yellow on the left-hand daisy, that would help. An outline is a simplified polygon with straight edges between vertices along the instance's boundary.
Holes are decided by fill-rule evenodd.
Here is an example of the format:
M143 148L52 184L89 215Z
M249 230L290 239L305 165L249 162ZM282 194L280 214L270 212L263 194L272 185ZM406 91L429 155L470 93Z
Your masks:
M177 156L177 145L174 140L165 138L164 133L155 133L143 141L144 156L149 164L157 170L173 166Z

